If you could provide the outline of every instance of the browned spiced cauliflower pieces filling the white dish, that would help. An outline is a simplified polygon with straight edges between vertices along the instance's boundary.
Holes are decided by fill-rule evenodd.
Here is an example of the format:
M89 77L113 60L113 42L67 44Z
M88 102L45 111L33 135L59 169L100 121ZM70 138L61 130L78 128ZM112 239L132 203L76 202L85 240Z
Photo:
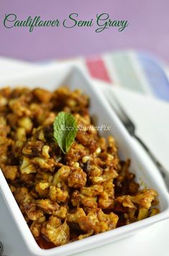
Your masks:
M88 95L64 87L0 90L0 167L44 249L159 213L157 192L140 190L114 137L91 129L88 106ZM84 129L60 131L65 117Z

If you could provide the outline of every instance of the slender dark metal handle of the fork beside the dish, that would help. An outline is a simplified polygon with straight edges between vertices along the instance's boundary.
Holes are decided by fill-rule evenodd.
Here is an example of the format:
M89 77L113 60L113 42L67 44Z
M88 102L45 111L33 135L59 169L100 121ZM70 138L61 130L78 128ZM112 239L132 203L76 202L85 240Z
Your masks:
M155 157L155 155L150 151L149 148L147 148L147 145L145 145L145 143L140 139L140 137L137 137L137 135L134 135L134 137L140 142L140 144L142 145L143 148L145 148L146 152L148 153L148 155L150 155L150 158L152 159L152 161L155 163L155 165L157 166L157 168L159 169L160 173L162 174L163 178L166 177L166 174L168 174L168 171L164 168L164 166L157 160L157 158Z

